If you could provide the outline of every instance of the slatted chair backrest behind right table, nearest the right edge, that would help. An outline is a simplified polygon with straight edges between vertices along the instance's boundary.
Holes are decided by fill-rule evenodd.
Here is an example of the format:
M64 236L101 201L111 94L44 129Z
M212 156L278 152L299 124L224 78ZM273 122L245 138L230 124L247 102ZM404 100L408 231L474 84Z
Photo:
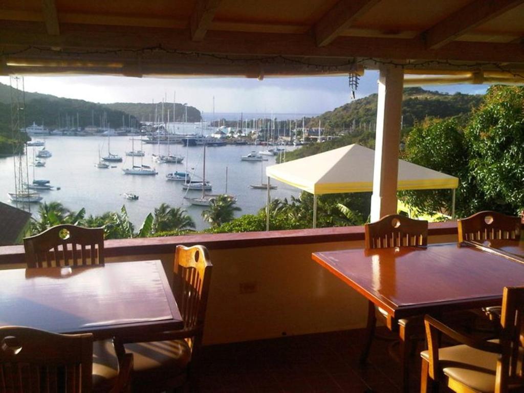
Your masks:
M493 211L475 213L457 220L459 243L492 239L520 239L521 218Z

